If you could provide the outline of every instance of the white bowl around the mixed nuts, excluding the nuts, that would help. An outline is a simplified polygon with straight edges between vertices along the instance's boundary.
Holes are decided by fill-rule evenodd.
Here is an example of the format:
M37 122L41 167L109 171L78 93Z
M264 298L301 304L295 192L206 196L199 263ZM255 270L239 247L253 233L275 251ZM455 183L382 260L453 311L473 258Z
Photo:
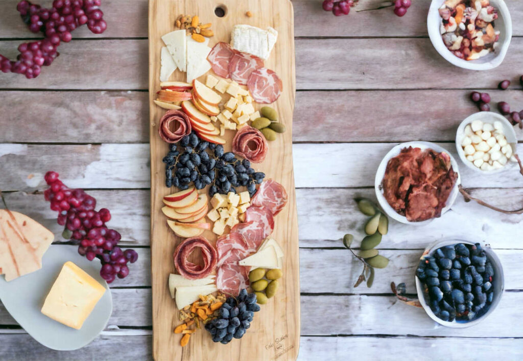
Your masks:
M439 31L439 26L441 22L441 17L439 16L439 7L444 3L445 0L432 0L430 4L430 8L427 15L427 30L428 30L428 36L430 38L430 41L432 42L434 48L436 51L449 63L456 65L457 67L463 68L463 69L469 69L469 70L491 70L496 67L498 67L503 60L505 59L505 56L508 51L508 47L510 45L510 41L512 39L512 19L510 17L510 12L508 10L507 4L504 0L494 0L494 2L497 4L496 7L498 8L499 12L503 16L503 23L505 24L506 29L506 38L504 39L503 43L499 44L499 48L497 49L498 54L497 56L492 59L491 61L486 62L477 62L477 60L464 60L460 59L452 52L450 52L449 49L445 46L445 43L443 42L443 39L441 38L441 34ZM435 16L433 16L433 13L438 13L438 22L437 26L434 23L433 19L435 19ZM479 60L479 59L478 59Z

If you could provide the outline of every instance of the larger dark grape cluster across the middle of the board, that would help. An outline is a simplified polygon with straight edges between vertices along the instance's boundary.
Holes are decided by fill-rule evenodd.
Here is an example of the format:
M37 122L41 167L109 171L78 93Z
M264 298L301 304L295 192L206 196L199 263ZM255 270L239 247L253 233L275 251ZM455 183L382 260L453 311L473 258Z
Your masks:
M194 132L171 144L163 162L166 187L184 190L191 183L196 189L210 185L210 196L237 193L236 187L247 187L252 197L256 184L265 178L265 173L256 172L248 160L237 159L233 152L224 152L222 145L202 140Z

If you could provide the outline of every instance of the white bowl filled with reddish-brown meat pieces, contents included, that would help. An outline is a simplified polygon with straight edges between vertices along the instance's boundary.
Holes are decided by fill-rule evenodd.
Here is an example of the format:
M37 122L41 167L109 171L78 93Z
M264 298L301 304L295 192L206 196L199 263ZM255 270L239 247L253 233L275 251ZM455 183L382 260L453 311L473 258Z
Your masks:
M374 189L388 216L422 225L450 209L460 182L458 163L446 149L426 141L410 141L385 155Z

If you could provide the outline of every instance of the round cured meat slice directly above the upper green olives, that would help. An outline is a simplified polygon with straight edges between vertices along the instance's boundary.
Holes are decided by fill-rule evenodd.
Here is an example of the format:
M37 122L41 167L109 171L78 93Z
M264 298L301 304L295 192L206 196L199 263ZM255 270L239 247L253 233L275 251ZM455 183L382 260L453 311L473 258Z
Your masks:
M280 97L283 83L276 72L260 68L251 73L247 80L247 87L257 103L270 104Z

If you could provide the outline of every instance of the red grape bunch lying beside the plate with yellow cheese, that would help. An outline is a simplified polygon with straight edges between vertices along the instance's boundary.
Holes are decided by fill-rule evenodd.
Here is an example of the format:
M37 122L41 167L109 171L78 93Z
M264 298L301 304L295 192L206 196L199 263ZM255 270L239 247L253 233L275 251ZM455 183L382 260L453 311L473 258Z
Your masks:
M96 199L82 189L69 189L56 172L47 172L44 179L49 188L43 192L51 210L59 212L57 223L65 226L63 236L78 244L78 253L92 261L100 259L100 276L111 283L129 275L127 263L134 263L138 254L133 249L118 247L120 233L106 227L111 220L108 209L95 211Z

